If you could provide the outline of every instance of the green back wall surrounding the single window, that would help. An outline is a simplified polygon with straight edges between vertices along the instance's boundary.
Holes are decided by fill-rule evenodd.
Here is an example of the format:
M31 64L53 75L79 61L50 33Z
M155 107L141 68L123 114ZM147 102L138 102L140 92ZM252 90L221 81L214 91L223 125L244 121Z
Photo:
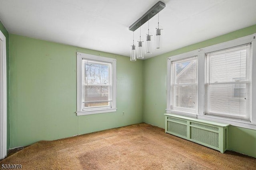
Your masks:
M9 41L10 148L143 121L143 61L13 34ZM76 116L76 52L116 59L116 112Z

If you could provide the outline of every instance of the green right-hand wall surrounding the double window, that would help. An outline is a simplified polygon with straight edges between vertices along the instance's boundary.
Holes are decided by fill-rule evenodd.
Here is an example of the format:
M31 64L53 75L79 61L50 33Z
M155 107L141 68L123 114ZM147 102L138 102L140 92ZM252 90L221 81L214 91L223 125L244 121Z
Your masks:
M167 57L186 53L202 47L208 47L210 45L251 35L253 33L256 33L256 25L145 60L143 63L144 122L164 128L164 113L166 113ZM231 126L229 132L230 150L256 157L256 131Z

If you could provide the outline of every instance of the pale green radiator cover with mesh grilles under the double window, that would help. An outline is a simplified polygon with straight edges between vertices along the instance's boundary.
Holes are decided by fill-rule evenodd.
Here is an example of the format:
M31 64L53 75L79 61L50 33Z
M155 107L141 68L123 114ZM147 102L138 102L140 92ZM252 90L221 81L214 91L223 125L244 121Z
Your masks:
M164 114L165 132L219 150L228 150L228 124Z

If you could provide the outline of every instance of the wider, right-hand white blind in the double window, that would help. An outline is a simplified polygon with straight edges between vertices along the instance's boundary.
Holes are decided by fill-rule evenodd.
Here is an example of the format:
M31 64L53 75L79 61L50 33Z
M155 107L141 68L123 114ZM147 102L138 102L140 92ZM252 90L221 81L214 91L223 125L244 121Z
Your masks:
M205 114L250 121L251 44L206 54Z

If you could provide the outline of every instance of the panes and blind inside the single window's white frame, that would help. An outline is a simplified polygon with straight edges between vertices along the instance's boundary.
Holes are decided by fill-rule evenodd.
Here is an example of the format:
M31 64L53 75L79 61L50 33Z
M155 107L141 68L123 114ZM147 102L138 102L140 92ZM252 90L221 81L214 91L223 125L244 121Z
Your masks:
M82 60L83 110L92 107L111 108L111 66L111 63Z

